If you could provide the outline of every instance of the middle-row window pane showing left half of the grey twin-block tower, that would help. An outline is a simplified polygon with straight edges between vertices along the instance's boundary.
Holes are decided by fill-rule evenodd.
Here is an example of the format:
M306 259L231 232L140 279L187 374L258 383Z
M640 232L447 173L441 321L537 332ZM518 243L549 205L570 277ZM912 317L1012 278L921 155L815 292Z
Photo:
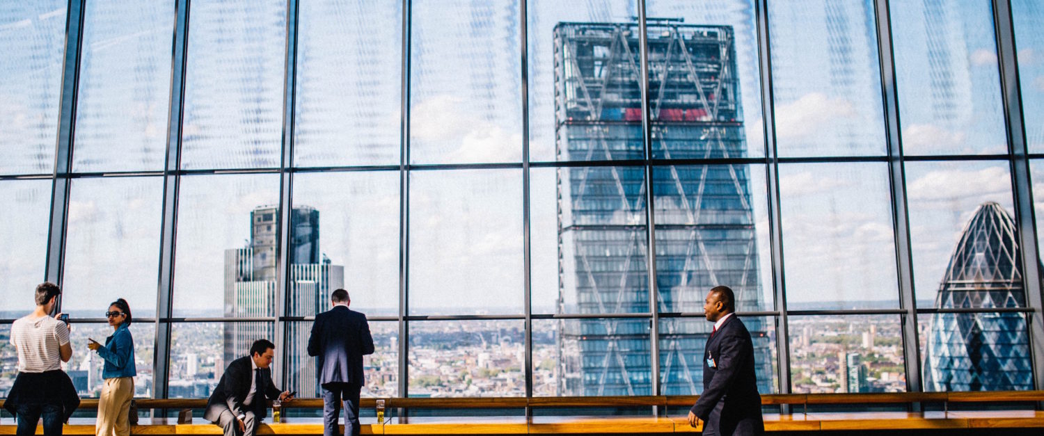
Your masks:
M275 316L279 175L184 176L180 195L174 316Z

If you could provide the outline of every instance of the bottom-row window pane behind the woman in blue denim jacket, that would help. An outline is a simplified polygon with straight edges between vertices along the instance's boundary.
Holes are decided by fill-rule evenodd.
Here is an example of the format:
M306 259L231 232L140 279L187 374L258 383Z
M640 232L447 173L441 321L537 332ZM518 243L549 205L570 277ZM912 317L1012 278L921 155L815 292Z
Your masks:
M64 299L63 304L68 300ZM108 310L109 306L96 308L91 317L101 318ZM130 312L135 316L139 316L136 308L132 307ZM134 338L135 369L138 370L138 374L134 378L134 394L135 396L151 396L156 323L132 322L129 330L130 336ZM104 385L101 370L105 361L98 357L97 353L87 347L88 338L105 343L105 338L112 334L113 328L105 323L76 323L69 332L69 342L72 343L75 353L66 364L66 372L72 379L73 385L76 386L76 392L82 397L97 398L101 395L101 387Z

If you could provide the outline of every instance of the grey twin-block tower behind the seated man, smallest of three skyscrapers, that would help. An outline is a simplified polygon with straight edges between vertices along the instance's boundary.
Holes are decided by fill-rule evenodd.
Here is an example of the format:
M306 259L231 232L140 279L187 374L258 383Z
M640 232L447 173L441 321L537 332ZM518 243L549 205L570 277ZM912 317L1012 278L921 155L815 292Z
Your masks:
M224 251L224 316L265 317L276 315L277 249L279 209L262 205L251 212L251 241L245 248ZM345 267L332 265L319 253L319 213L309 207L293 208L290 214L290 274L286 313L314 316L333 289L345 286ZM321 259L322 258L322 259ZM299 396L318 394L314 360L308 357L309 330L289 324L286 356L294 369L291 384ZM261 338L271 339L263 323L224 323L224 362L243 356Z

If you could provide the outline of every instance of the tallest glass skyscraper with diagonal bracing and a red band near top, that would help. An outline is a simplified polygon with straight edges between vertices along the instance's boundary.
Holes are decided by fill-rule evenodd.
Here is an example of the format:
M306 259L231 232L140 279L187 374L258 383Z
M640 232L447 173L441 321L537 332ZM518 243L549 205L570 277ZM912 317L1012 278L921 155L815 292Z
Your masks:
M745 156L732 28L668 20L647 27L651 158ZM646 155L638 33L637 24L555 26L560 161ZM651 174L659 287L654 310L699 312L716 285L736 291L739 311L762 310L748 167L664 166ZM560 313L649 311L648 181L641 166L559 169ZM568 307L574 300L576 307ZM770 373L763 322L744 322L755 336L758 372ZM659 393L702 390L710 330L703 319L661 322ZM560 394L652 393L647 319L562 321L559 332ZM762 391L769 391L770 382L759 382Z

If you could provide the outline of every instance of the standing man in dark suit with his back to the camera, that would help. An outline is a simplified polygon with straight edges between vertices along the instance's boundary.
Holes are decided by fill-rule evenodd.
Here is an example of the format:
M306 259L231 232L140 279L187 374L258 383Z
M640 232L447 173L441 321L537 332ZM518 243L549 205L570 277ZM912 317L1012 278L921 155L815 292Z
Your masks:
M337 436L341 402L345 406L345 436L359 434L359 391L366 384L362 356L374 354L366 315L348 309L348 291L330 294L333 309L315 316L308 338L308 356L318 357L318 379L323 386L323 436Z

